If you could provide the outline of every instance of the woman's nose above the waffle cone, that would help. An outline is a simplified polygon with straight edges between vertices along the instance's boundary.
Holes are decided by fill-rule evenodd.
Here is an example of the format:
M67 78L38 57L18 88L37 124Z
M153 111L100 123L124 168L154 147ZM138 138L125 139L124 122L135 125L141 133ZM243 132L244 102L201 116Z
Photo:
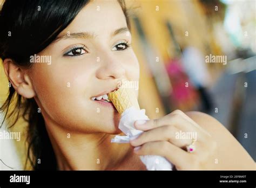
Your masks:
M125 75L125 68L122 65L122 59L115 59L108 56L98 63L101 64L96 72L96 77L98 79L118 79Z

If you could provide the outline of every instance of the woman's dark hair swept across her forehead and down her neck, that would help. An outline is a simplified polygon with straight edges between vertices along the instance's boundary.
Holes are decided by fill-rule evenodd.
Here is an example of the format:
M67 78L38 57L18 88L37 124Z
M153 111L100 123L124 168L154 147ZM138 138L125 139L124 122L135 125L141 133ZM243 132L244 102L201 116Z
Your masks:
M117 1L130 29L125 2ZM30 55L41 52L51 44L89 2L90 0L6 0L0 12L0 57L2 60L12 59L19 67L30 68ZM15 102L15 108L8 112L12 102ZM11 86L0 112L5 112L3 122L6 117L10 119L15 116L10 127L14 126L19 116L28 122L29 147L26 164L29 160L34 170L56 170L56 157L35 99L23 98Z

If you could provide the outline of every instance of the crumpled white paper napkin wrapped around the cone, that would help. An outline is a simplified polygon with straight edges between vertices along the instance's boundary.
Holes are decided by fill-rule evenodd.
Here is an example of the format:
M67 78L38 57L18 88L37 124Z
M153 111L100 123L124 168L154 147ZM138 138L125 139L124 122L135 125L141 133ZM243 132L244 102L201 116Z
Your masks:
M134 121L137 120L149 120L149 117L145 115L145 109L138 110L134 107L126 109L121 115L118 126L126 136L115 136L111 142L129 143L131 137L142 134L142 130L137 130L133 126ZM172 170L173 168L173 164L167 161L165 157L146 155L140 156L140 159L146 165L147 170Z

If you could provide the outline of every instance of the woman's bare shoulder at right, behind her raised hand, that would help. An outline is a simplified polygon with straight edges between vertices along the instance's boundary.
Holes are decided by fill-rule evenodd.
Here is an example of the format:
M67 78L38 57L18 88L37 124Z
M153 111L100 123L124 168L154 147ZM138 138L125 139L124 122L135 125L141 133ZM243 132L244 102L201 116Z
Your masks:
M214 164L219 170L255 170L255 162L223 124L201 112L185 113L217 142ZM216 160L217 159L217 160Z

